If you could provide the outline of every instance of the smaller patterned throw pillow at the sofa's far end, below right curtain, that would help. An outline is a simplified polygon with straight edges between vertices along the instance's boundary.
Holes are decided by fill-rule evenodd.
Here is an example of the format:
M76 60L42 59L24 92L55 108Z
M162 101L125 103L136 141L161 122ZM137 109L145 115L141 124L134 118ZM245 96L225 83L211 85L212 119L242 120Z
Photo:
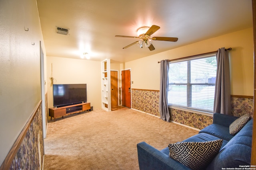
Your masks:
M248 114L242 115L241 117L239 117L233 123L230 124L230 126L229 126L229 133L231 135L235 135L236 133L238 133L244 127L244 125L250 119L251 119L250 115L248 115Z

